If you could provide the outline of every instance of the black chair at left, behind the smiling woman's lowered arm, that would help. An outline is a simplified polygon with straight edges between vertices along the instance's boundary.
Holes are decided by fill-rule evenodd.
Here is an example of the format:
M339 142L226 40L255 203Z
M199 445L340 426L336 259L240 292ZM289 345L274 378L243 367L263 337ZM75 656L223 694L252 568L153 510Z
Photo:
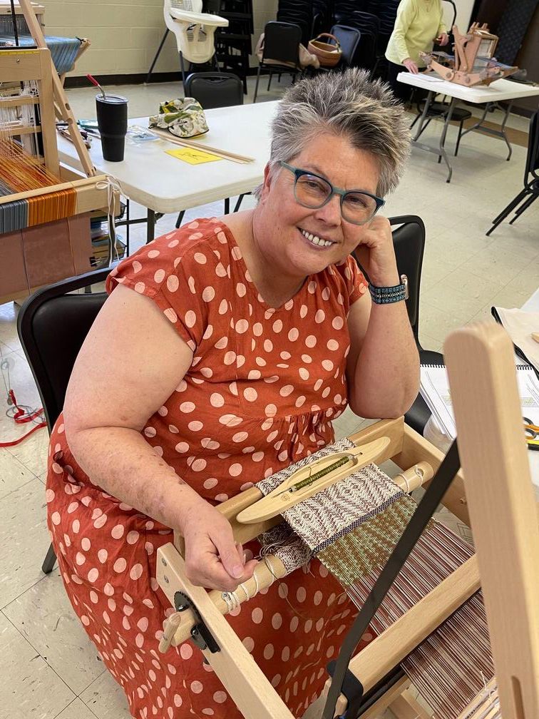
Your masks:
M69 293L104 282L110 271L107 267L37 290L19 311L17 331L40 393L49 433L62 411L80 347L107 297L105 292ZM51 544L43 572L52 572L55 562Z

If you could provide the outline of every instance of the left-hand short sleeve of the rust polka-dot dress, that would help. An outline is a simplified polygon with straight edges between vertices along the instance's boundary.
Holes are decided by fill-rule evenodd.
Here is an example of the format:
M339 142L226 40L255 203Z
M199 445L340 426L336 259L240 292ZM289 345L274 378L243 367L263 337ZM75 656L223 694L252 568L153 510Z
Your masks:
M203 273L201 257L206 257L198 251L203 233L193 237L193 229L185 226L144 245L112 270L106 291L111 293L122 284L150 298L194 352L208 317L198 290Z

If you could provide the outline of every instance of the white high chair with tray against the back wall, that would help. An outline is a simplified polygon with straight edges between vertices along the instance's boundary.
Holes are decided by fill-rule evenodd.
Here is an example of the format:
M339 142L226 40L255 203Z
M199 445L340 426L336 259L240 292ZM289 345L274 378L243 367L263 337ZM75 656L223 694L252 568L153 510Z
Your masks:
M173 32L180 58L190 63L207 63L215 55L213 35L229 21L202 11L202 0L165 0L165 24ZM183 73L183 60L182 60Z

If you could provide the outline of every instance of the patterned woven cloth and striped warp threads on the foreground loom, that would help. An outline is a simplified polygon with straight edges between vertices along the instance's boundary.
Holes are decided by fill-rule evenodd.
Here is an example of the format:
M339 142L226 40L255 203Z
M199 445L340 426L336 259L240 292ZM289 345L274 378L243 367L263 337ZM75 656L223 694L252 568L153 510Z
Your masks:
M353 446L349 440L341 440L257 486L268 494L296 470ZM370 464L286 510L286 523L260 538L262 552L277 554L289 572L311 556L318 557L361 608L415 506L390 477ZM382 633L473 553L473 548L448 528L430 521L384 598L372 630ZM437 719L454 719L463 712L494 677L481 592L407 656L402 668Z

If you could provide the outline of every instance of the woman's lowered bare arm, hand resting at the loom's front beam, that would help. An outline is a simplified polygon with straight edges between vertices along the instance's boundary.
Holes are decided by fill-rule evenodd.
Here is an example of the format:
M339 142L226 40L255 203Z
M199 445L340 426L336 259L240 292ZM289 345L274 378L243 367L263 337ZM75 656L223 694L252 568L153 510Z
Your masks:
M78 355L65 398L73 456L106 493L185 537L191 581L234 590L252 574L230 524L140 434L178 387L193 354L149 298L119 285ZM235 579L232 579L234 577Z

